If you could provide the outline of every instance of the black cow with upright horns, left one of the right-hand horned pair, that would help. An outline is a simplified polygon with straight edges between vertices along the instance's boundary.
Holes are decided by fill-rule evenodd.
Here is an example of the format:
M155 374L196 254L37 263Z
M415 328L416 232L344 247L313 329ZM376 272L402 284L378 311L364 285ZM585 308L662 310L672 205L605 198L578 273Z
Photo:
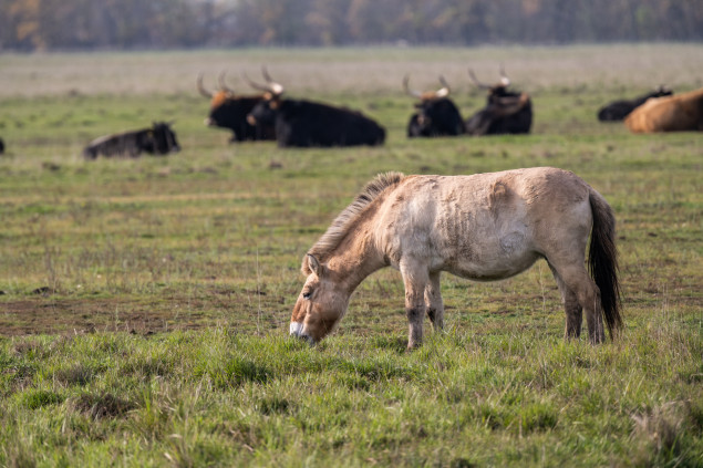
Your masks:
M417 112L410 117L407 123L407 136L455 136L464 133L464 121L456 105L447 96L449 85L440 76L442 87L437 91L410 90L407 75L403 80L403 89L406 94L418 97L415 104Z

